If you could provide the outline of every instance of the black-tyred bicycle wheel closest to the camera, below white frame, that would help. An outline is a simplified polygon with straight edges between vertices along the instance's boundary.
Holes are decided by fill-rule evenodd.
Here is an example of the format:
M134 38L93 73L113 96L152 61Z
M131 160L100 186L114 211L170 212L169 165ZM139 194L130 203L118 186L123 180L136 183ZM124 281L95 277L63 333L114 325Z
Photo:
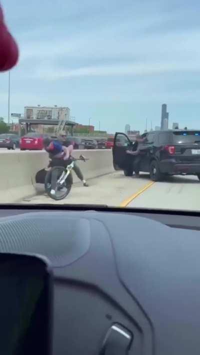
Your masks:
M63 166L54 166L52 169L50 169L45 176L45 181L44 181L44 186L45 186L45 191L47 195L52 198L53 200L62 200L65 198L70 190L71 190L71 185L73 183L72 181L72 175L71 173L67 176L66 180L63 182L62 185L58 184L57 180L61 176L61 174L65 171ZM52 194L51 190L51 184L52 184L52 178L55 179L55 193Z

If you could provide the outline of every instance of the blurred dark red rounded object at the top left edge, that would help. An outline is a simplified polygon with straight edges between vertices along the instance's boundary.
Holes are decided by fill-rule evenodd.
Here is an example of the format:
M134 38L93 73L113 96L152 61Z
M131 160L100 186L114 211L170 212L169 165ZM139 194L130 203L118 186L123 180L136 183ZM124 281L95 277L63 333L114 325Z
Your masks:
M0 71L11 69L18 60L17 44L4 23L0 6Z

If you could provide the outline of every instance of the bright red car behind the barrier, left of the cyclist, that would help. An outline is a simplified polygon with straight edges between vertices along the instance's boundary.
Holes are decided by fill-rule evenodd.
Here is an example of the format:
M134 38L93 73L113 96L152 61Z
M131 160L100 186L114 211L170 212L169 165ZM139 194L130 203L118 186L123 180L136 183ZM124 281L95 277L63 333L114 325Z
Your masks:
M29 132L19 140L20 150L41 150L43 149L43 138L48 137L47 134Z

